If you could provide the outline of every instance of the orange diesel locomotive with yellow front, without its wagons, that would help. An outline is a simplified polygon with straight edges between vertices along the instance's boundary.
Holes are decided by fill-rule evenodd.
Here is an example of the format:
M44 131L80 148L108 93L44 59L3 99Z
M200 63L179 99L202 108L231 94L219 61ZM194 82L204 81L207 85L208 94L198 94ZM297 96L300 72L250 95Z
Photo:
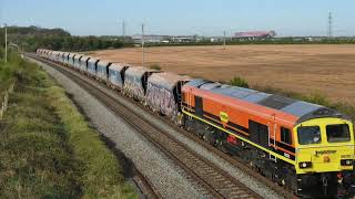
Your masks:
M223 146L297 195L323 190L336 196L339 187L352 184L353 126L336 111L193 80L182 87L182 112L187 130Z

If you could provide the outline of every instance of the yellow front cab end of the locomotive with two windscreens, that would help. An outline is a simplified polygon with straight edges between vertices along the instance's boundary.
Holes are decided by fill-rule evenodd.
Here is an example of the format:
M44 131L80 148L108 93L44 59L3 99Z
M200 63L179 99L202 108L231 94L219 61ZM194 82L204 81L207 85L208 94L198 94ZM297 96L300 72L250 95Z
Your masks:
M294 127L298 192L322 188L325 195L338 192L343 179L354 174L354 128L343 118L314 118ZM349 185L348 185L349 186Z

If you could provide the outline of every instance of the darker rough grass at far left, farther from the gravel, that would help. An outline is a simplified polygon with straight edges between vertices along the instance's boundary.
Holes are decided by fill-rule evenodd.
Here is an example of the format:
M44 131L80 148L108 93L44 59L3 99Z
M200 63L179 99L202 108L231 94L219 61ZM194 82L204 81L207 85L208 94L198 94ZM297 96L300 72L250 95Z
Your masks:
M44 92L19 86L0 135L0 198L79 198L81 166L60 119Z

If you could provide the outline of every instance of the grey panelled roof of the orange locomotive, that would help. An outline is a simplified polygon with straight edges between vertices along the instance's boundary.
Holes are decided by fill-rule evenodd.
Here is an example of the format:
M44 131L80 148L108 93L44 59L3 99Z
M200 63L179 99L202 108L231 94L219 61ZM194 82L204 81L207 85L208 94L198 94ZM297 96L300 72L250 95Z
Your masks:
M255 90L210 82L202 78L192 80L191 82L186 83L186 85L199 87L201 90L207 90L213 93L233 98L247 101L253 104L258 104L294 115L298 117L297 123L321 117L342 117L348 119L347 116L341 114L339 112L322 105L297 101L281 95L258 92Z

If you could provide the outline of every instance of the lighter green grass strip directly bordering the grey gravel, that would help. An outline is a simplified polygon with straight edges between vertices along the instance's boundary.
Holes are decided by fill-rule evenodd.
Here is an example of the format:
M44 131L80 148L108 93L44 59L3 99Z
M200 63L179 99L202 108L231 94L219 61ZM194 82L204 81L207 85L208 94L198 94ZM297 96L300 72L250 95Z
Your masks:
M65 129L71 133L69 143L73 146L74 154L85 165L82 176L83 195L88 197L135 197L132 188L124 184L118 159L100 140L100 136L88 126L83 116L64 95L64 91L52 86L48 94Z

